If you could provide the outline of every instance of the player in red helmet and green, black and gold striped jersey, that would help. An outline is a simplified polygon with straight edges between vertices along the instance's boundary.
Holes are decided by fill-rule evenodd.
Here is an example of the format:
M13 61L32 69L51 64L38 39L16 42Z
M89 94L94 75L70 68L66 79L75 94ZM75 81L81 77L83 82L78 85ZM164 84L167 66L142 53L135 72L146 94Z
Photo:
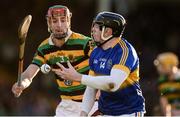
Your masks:
M66 66L67 61L71 61L79 73L89 72L91 38L71 31L71 15L66 6L55 5L48 9L46 18L51 35L39 45L32 64L22 73L22 85L18 86L17 83L13 85L14 94L20 95L31 84L32 79L45 63L51 68L57 68L57 62ZM57 75L56 79L62 98L56 108L56 116L79 115L86 86L79 82L64 80Z

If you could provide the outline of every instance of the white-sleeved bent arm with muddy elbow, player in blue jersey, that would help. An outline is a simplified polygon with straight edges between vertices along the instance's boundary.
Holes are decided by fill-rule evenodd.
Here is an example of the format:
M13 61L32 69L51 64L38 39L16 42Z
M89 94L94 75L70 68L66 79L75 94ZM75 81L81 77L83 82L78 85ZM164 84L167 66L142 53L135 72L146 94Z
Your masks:
M128 77L128 73L122 70L112 69L110 76L83 75L81 83L89 87L108 92L117 91L120 85Z

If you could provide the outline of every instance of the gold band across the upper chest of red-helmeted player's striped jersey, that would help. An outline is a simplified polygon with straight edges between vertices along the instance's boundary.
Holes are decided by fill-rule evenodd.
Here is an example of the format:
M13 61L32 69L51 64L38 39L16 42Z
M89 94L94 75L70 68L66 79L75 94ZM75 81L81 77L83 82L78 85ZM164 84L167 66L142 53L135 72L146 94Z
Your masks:
M84 50L69 50L69 51L68 50L67 51L59 50L57 52L52 52L52 53L46 54L45 58L47 60L49 60L50 57L52 57L52 56L58 57L58 56L71 56L71 55L84 56ZM75 56L73 56L73 57L75 57Z

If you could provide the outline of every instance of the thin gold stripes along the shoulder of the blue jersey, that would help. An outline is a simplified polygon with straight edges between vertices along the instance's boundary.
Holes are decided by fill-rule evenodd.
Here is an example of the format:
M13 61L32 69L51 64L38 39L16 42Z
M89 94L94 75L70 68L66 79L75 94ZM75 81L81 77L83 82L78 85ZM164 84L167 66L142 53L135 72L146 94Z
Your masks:
M124 43L124 41L120 41L119 44L120 44L122 51L123 51L119 64L125 65L128 54L129 54L129 50L128 50L128 47L126 46L126 44Z

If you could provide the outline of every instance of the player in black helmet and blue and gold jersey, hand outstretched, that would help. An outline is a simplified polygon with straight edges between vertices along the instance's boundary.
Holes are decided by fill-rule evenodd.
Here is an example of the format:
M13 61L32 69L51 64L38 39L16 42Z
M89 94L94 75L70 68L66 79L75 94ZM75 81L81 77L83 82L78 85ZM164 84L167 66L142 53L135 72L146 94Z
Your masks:
M134 47L122 34L126 20L120 14L100 12L92 24L92 38L97 47L90 55L89 75L76 72L57 63L53 71L63 79L87 85L81 115L91 110L97 90L100 90L98 111L110 116L144 116L145 100L139 85L139 58Z

